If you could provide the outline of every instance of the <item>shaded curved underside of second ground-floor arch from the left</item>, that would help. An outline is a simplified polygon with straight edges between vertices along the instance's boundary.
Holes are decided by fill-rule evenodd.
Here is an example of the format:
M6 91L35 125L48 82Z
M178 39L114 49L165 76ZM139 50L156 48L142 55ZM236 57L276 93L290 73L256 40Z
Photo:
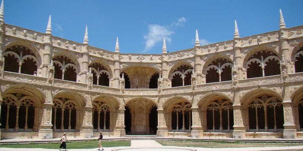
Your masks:
M75 105L78 109L86 105L86 98L78 92L73 91L61 91L56 94L53 94L53 98L67 98L68 100L74 100Z

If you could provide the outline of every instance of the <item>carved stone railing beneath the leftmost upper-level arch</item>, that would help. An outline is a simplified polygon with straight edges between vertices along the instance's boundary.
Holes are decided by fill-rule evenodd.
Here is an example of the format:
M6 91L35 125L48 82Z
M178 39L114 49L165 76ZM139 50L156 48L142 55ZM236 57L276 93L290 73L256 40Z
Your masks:
M22 73L15 73L15 72L4 72L4 79L10 81L19 81L25 83L37 83L37 84L46 84L47 78L40 77L40 76L33 76L33 75L26 75Z

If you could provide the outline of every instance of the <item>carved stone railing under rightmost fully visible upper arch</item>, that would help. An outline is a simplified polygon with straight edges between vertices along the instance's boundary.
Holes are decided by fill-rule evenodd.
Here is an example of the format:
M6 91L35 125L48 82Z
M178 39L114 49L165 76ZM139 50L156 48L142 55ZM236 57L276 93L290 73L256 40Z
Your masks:
M236 86L264 85L274 84L278 82L281 82L281 75L241 79L239 80L239 83Z

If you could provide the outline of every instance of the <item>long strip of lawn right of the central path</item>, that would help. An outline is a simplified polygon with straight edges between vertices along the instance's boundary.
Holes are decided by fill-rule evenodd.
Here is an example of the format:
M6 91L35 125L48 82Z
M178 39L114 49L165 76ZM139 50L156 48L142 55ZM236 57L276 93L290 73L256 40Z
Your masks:
M189 142L189 141L162 141L156 140L163 146L188 146L188 147L207 147L207 148L231 148L231 147L270 147L270 146L299 146L291 143L237 143L237 142Z

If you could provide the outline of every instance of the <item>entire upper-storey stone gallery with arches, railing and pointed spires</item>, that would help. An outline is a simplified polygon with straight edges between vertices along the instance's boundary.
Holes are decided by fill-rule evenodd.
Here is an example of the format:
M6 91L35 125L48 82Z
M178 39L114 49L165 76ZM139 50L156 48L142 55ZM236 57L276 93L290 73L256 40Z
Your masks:
M51 16L45 33L5 24L3 5L0 23L1 78L8 81L157 95L282 82L303 72L303 26L286 28L281 11L278 31L240 37L235 21L232 40L200 46L196 31L193 48L168 53L164 39L161 54L120 53L118 37L114 52L92 47L87 26L83 43L55 37Z

